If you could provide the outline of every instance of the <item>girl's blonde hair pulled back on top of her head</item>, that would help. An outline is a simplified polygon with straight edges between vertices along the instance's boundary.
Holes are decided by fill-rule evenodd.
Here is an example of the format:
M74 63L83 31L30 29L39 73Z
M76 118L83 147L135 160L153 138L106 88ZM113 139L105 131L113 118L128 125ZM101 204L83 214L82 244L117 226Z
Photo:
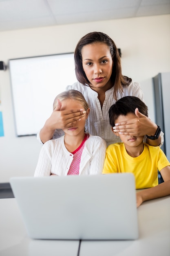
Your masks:
M55 107L57 105L57 99L59 99L60 101L64 101L66 99L74 99L76 101L79 101L79 103L82 104L85 111L87 111L89 108L88 103L84 99L83 94L77 90L68 90L68 91L64 91L64 92L61 92L60 94L58 94L57 97L55 97L55 100L53 103L53 110L55 109Z

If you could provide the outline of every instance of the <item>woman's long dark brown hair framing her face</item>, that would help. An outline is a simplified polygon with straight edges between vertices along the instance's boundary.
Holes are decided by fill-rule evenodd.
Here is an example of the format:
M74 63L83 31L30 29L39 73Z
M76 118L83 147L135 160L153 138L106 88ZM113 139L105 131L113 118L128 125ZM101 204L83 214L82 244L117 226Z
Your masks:
M83 85L90 86L90 82L88 81L86 74L83 70L82 48L85 45L90 45L95 43L104 43L110 49L110 54L113 60L113 68L112 68L112 74L110 79L114 86L113 97L117 100L117 91L120 90L120 92L123 92L122 86L129 85L132 79L128 78L127 76L123 76L121 74L121 59L119 56L119 51L115 43L113 42L113 40L106 34L102 32L91 32L83 36L77 43L77 46L75 48L75 53L74 53L75 74L76 74L77 80Z

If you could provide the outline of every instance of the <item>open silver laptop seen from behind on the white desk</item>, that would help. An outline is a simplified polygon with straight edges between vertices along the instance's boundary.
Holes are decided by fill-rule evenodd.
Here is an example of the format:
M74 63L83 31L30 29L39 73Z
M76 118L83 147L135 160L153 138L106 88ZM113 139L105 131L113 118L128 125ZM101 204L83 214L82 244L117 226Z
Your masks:
M12 177L10 184L30 238L138 238L132 173Z

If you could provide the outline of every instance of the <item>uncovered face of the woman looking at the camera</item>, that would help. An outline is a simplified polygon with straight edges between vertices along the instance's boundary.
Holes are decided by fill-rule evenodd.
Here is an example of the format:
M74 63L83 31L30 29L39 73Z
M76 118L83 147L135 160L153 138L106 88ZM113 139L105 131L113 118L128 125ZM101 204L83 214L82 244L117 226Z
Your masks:
M82 48L82 65L93 90L108 90L111 85L113 60L105 43L94 43Z

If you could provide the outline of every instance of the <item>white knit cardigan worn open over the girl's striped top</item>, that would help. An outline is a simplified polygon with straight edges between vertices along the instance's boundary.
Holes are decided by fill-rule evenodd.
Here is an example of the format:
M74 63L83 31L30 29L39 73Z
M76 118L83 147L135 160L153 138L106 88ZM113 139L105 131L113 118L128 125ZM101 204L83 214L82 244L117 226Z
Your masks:
M104 166L106 142L90 135L85 141L79 166L79 175L101 174ZM35 177L56 174L66 176L73 161L73 154L64 145L64 136L47 141L40 151Z

